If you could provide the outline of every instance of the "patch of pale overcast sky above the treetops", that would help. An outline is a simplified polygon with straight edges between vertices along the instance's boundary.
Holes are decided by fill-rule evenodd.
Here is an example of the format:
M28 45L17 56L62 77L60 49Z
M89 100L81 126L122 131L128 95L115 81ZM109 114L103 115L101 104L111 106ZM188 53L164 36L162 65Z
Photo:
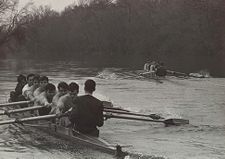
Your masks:
M28 2L33 2L35 6L49 5L54 10L62 11L65 6L76 2L76 0L19 0L19 7L24 6Z

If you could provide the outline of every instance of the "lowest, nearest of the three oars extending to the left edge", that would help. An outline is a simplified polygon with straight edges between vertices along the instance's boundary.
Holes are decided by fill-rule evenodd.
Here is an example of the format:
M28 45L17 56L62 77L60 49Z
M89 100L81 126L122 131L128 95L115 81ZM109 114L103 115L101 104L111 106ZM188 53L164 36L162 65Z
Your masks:
M35 117L28 117L28 118L22 118L22 119L10 119L5 121L0 121L0 125L23 123L23 122L36 121L36 120L45 120L45 119L52 119L56 117L57 117L56 114L51 114L51 115L35 116Z

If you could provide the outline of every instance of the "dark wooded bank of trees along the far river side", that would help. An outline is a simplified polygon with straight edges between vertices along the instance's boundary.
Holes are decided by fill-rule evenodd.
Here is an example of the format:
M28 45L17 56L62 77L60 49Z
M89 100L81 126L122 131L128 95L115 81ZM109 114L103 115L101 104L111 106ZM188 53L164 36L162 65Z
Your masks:
M0 19L2 2L16 0L1 0ZM13 15L11 28L0 23L1 57L135 68L158 60L225 75L225 0L80 0L60 13L42 6Z

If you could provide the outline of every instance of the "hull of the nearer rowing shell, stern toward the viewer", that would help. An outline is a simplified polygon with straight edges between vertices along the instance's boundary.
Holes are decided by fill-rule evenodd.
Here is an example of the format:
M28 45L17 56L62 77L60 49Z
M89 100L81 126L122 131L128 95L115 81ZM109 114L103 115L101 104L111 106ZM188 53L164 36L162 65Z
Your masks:
M22 114L20 115L14 114L12 116L10 115L10 118L12 118L12 120L14 120L14 118L20 120L21 115ZM23 116L27 117L32 115L30 113L23 113ZM48 115L48 116L50 117L49 119L51 119L51 116L53 117L54 115ZM26 121L27 119L28 122L23 124L20 124L20 122L18 122L15 125L23 129L26 127L32 127L32 128L41 130L45 133L48 133L50 135L74 142L76 144L79 144L91 149L98 150L103 153L115 155L117 157L124 158L128 154L127 152L123 152L121 150L121 146L119 145L112 146L107 141L103 140L100 137L93 137L93 136L82 134L78 131L73 130L72 128L67 128L59 124L53 123L51 122L51 120L46 120L47 118L43 118L42 121L34 121L33 119L40 118L41 116L32 116L28 118L24 118L24 117L22 118L22 120L25 119L24 121Z

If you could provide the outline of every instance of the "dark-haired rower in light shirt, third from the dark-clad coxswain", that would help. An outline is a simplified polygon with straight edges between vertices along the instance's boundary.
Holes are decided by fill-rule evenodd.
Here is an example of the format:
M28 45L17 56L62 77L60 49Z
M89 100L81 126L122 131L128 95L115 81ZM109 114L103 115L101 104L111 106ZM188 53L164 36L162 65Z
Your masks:
M47 115L51 111L52 100L56 94L56 88L52 83L45 86L44 92L35 97L35 105L46 106L38 110L39 115Z

